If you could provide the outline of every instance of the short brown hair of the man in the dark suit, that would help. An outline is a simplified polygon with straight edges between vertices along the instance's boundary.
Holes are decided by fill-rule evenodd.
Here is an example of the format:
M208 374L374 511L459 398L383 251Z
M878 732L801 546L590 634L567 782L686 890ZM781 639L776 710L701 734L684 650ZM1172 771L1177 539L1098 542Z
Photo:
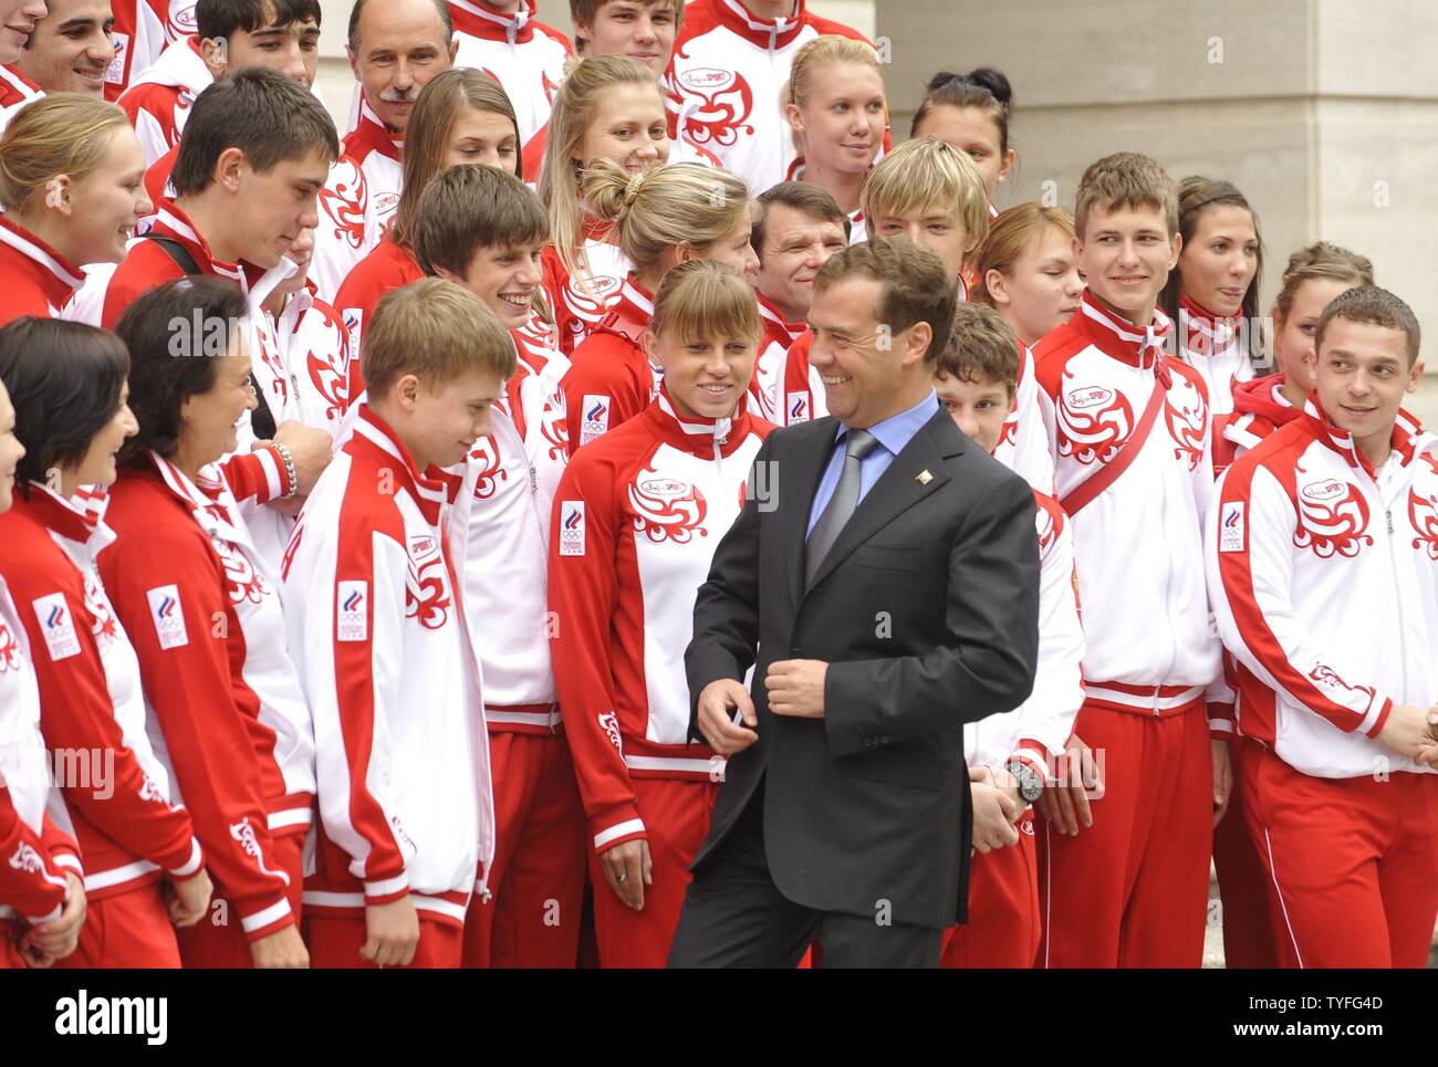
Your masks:
M834 253L820 267L814 292L853 276L869 278L883 286L879 321L887 324L892 334L928 322L933 339L925 358L939 358L953 329L958 288L935 253L905 237L871 237Z

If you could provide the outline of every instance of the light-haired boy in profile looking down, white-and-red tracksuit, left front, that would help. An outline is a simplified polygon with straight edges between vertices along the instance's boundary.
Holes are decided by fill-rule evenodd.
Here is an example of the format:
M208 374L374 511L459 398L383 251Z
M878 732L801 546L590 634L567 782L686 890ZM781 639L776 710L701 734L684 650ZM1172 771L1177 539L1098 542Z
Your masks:
M450 486L515 370L453 282L380 301L354 436L286 551L290 649L315 718L313 966L459 966L495 851L479 659L447 542ZM479 880L476 886L476 871Z

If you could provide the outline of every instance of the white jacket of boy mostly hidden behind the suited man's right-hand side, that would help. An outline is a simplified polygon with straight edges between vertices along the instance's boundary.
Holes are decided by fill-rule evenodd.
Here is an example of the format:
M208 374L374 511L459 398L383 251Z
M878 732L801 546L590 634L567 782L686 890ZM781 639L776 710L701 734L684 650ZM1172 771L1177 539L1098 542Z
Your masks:
M963 728L969 766L1021 761L1045 782L1054 779L1074 719L1083 706L1083 627L1068 516L1051 496L1034 493L1038 534L1038 667L1034 692L1011 712Z

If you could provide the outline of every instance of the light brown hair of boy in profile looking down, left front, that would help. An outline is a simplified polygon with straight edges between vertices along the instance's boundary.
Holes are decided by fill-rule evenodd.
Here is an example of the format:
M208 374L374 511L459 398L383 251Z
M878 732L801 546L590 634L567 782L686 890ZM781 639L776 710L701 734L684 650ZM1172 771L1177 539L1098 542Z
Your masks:
M469 289L443 278L426 278L385 293L370 316L360 354L371 397L406 374L433 388L469 371L508 378L516 364L513 338L495 312Z

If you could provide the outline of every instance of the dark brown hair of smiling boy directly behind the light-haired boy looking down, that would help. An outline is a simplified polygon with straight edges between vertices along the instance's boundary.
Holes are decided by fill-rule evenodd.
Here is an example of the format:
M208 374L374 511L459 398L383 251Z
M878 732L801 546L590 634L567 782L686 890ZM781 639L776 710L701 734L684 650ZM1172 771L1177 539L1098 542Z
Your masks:
M414 211L414 259L426 275L463 278L483 247L542 244L549 219L529 187L509 171L477 162L450 167L430 181Z

